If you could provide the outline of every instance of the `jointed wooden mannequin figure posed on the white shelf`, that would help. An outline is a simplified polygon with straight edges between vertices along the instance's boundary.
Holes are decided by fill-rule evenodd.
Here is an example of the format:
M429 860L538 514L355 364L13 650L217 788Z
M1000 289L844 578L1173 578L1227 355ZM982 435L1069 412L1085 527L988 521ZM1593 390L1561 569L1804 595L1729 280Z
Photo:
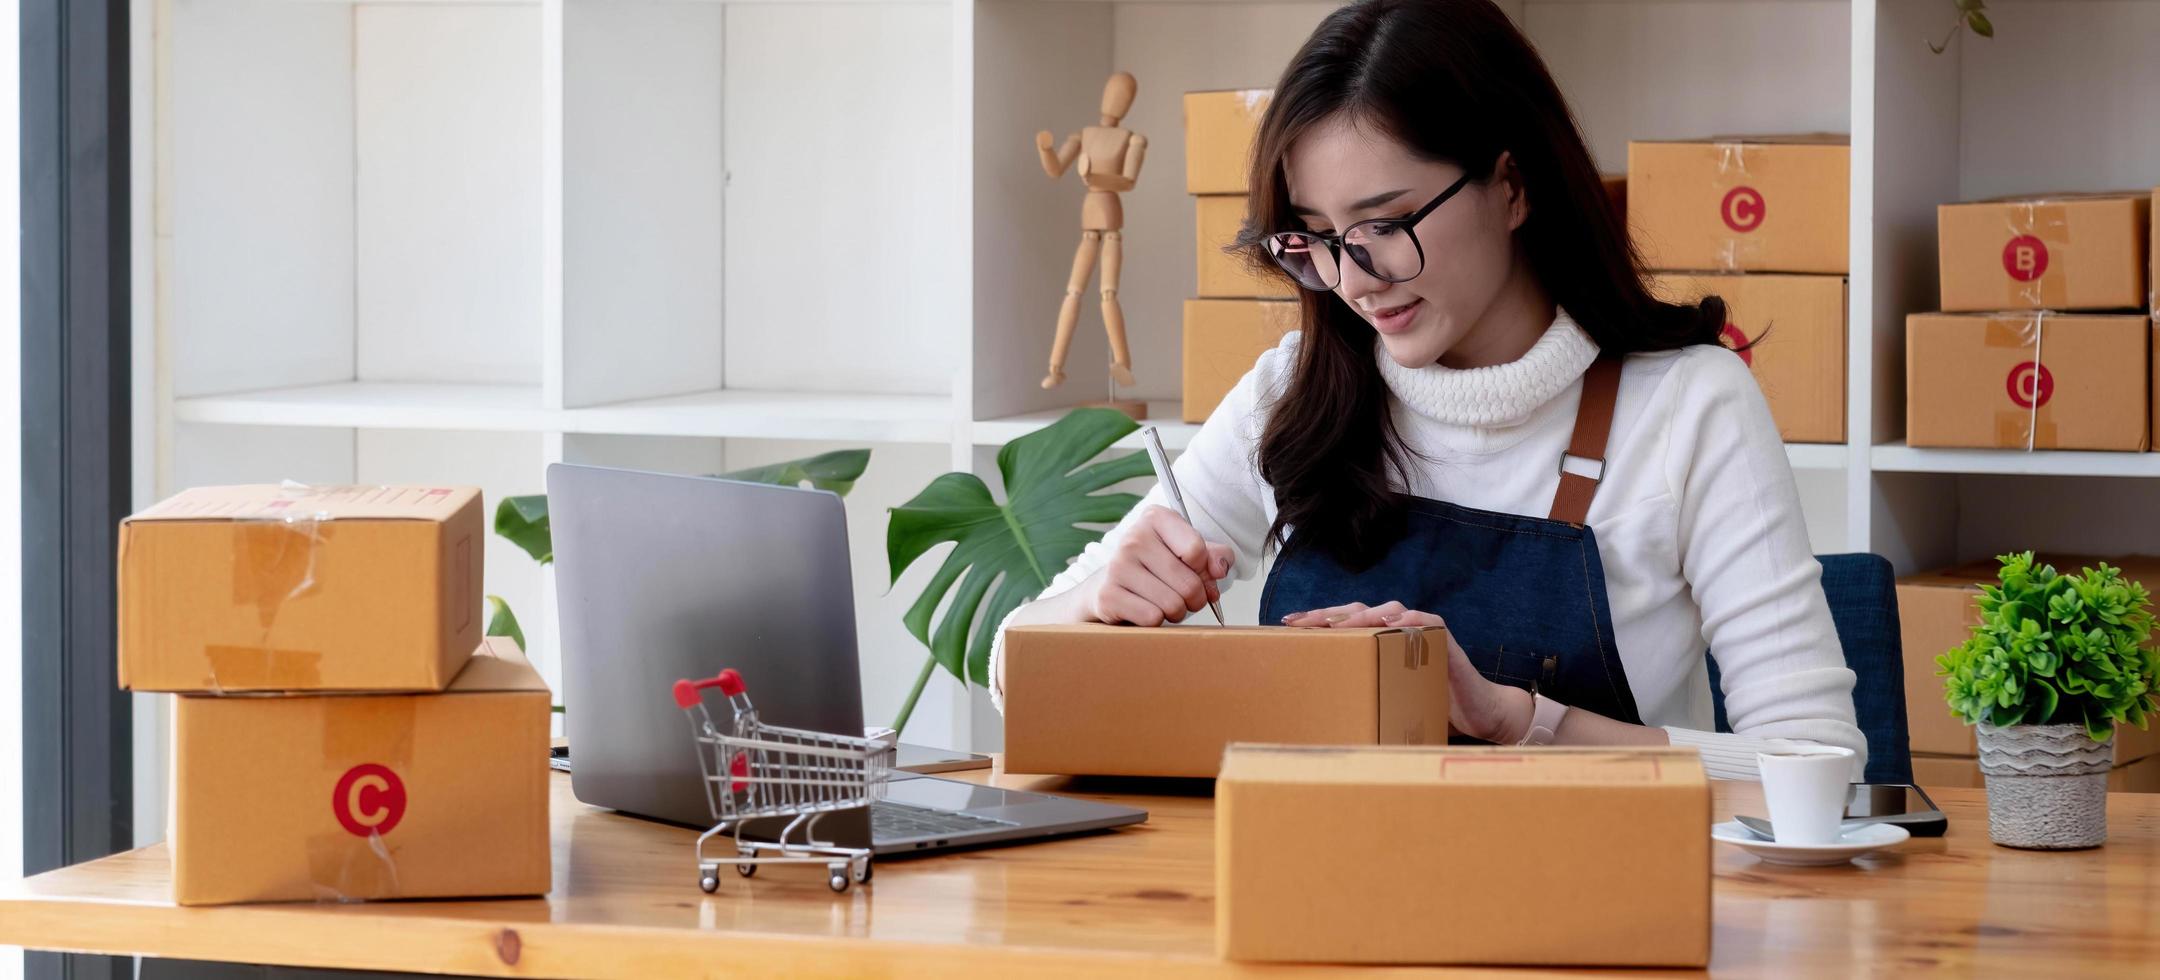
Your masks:
M1074 326L1080 322L1080 291L1086 276L1102 257L1102 326L1110 335L1110 378L1117 384L1132 384L1132 352L1125 348L1125 311L1117 304L1117 278L1125 263L1125 209L1121 192L1132 190L1140 179L1140 160L1147 158L1147 136L1121 130L1117 123L1132 108L1132 95L1140 89L1132 76L1119 71L1102 86L1102 125L1089 125L1065 138L1063 147L1050 149L1050 130L1035 134L1035 149L1043 155L1043 173L1050 179L1065 177L1074 160L1080 162L1080 181L1086 183L1086 203L1080 205L1080 250L1074 253L1074 274L1065 283L1065 304L1058 307L1058 335L1050 343L1050 373L1045 389L1065 380L1065 352L1074 343Z

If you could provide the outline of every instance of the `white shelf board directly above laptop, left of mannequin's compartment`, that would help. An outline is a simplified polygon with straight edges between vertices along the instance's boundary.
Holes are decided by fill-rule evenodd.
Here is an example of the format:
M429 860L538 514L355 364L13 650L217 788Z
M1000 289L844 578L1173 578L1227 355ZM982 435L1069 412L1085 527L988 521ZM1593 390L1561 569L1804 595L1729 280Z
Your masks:
M953 401L940 395L700 391L564 412L559 432L702 438L823 438L950 443Z

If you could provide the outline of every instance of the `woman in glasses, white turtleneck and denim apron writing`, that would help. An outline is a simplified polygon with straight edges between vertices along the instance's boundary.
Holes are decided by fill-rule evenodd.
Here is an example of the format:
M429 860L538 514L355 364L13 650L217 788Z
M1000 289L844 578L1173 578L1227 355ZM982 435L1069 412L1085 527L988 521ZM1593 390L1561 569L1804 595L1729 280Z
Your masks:
M1192 525L1158 488L1007 624L1179 622L1274 550L1261 622L1445 624L1471 738L1691 745L1724 777L1788 743L1866 753L1724 302L1646 294L1499 9L1328 15L1261 121L1251 214L1240 244L1305 287L1305 328L1177 460Z

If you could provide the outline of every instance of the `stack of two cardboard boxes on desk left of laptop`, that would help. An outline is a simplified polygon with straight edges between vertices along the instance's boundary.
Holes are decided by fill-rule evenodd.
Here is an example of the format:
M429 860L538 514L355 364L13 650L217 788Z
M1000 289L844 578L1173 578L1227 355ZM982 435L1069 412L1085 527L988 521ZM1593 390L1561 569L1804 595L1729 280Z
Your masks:
M477 490L404 486L121 525L121 686L179 695L175 902L549 889L549 691L482 641L484 533Z

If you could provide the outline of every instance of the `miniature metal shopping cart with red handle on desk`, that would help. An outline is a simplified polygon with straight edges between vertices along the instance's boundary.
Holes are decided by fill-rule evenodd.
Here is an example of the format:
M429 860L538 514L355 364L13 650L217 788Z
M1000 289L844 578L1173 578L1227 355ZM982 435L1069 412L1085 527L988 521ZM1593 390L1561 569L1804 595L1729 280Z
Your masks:
M728 730L713 725L704 708L706 689L719 689L734 712ZM713 829L698 835L698 887L719 889L719 866L706 857L706 842L734 831L734 870L745 879L760 863L823 863L827 885L847 891L853 881L870 881L870 848L847 848L816 840L816 822L836 809L864 807L886 794L892 773L892 740L849 738L825 732L767 725L743 693L734 669L711 680L676 680L676 706L689 717L704 771L704 799L713 805ZM745 840L750 820L791 818L771 842Z

